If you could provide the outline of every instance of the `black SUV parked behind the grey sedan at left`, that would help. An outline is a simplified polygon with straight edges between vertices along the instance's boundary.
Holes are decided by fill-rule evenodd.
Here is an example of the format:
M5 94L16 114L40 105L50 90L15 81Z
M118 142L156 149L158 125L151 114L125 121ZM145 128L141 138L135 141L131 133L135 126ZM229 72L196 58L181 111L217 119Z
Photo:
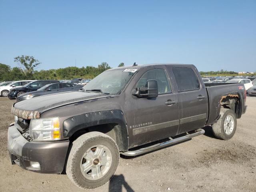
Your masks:
M59 81L57 81L57 80L39 80L39 81L29 82L22 87L12 88L8 93L8 98L15 99L16 97L18 97L24 93L36 91L39 88L41 88L47 84L51 84L51 83L59 83Z

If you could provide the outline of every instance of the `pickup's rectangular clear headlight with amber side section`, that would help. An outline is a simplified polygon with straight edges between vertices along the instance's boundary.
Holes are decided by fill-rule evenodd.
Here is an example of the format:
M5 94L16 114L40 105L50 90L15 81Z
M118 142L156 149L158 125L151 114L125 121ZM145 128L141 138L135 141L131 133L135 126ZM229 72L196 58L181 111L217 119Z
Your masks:
M29 134L34 141L60 140L60 119L58 117L32 119Z

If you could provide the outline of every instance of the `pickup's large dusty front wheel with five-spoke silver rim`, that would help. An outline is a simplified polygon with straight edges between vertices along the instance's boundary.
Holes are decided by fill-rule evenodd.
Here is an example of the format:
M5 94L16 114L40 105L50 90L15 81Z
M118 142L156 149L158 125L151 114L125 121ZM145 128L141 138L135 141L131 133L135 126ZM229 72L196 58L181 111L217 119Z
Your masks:
M103 148L103 155L100 155L102 152L97 152L101 151L101 148ZM76 186L82 189L102 186L116 172L119 156L118 146L110 136L101 132L86 133L73 142L66 164L66 174ZM82 164L86 167L83 173ZM95 169L95 167L100 168Z

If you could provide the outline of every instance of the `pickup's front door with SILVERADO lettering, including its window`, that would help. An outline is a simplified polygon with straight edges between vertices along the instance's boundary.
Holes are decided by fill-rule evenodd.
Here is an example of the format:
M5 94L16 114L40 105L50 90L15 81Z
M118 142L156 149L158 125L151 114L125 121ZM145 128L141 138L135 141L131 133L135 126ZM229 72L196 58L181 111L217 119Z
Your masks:
M146 71L136 87L146 87L147 80L158 82L156 98L138 98L126 94L129 148L176 135L179 127L177 94L172 92L164 68Z

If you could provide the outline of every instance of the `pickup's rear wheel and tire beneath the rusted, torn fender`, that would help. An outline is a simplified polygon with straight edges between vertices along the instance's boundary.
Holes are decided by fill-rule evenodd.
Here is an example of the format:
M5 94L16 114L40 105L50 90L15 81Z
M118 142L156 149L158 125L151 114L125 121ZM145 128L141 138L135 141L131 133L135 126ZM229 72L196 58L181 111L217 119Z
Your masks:
M214 136L218 139L231 139L236 132L236 114L234 111L221 108L220 119L212 125L212 131Z

